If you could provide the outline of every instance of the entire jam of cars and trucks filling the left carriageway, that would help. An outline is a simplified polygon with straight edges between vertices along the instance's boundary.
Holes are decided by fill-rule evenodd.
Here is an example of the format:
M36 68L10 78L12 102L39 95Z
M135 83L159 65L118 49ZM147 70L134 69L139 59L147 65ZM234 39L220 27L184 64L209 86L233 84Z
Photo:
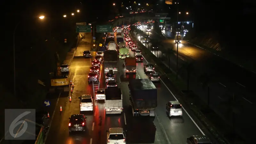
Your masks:
M121 30L121 31L120 31ZM116 39L122 38L122 28L115 28ZM97 52L95 59L92 60L92 67L88 74L88 83L99 83L100 71L104 66L106 88L100 88L95 94L95 100L104 100L105 114L121 114L123 112L123 94L121 88L116 83L115 71L117 69L118 55L120 59L124 59L125 74L136 73L136 63L143 62L141 51L137 49L137 45L133 43L128 36L128 30L123 29L123 41L115 43L114 34L110 34L105 39L105 52ZM120 35L121 34L121 35ZM128 42L129 48L135 53L135 57L129 56L129 49L124 42ZM107 43L107 44L106 44ZM118 51L116 50L118 49ZM91 57L90 51L84 51L84 57ZM152 63L144 64L144 72L148 74L148 79L132 79L129 81L129 103L132 107L132 115L137 116L155 116L157 107L157 89L153 82L159 82L160 76L155 71ZM93 112L93 99L90 94L84 94L79 97L80 111ZM182 116L182 106L179 101L169 101L165 108L169 117ZM69 132L85 131L86 117L82 114L72 115L68 123ZM107 132L107 143L120 144L126 143L126 134L123 128L110 128ZM196 136L188 138L187 143L196 140Z

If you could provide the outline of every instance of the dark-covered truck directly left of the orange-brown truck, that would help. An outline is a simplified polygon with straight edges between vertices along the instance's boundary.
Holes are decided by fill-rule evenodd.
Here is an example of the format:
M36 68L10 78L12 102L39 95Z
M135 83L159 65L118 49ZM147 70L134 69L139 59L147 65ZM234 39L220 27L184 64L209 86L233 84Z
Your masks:
M105 51L103 56L104 71L117 71L117 59L117 52L115 50Z

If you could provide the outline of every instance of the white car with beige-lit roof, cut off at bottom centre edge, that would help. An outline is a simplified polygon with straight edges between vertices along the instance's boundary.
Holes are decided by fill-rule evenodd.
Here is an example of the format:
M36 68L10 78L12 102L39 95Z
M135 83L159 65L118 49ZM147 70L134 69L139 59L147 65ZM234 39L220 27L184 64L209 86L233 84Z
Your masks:
M126 143L126 134L123 128L109 128L107 132L108 144L124 144Z

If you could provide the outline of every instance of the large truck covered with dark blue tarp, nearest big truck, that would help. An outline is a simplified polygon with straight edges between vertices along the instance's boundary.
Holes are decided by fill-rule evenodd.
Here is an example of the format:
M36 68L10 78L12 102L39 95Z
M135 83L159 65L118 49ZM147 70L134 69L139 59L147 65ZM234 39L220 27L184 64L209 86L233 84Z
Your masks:
M149 79L132 79L128 84L133 116L155 116L157 89Z

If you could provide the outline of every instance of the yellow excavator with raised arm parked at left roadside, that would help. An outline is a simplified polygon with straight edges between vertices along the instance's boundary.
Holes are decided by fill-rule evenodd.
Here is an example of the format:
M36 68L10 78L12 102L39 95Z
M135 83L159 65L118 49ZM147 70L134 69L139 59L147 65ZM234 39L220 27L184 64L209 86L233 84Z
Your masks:
M55 72L50 73L51 87L49 92L69 92L70 84L67 75L61 73L61 65L59 54L55 53L55 59L57 63L57 69Z

